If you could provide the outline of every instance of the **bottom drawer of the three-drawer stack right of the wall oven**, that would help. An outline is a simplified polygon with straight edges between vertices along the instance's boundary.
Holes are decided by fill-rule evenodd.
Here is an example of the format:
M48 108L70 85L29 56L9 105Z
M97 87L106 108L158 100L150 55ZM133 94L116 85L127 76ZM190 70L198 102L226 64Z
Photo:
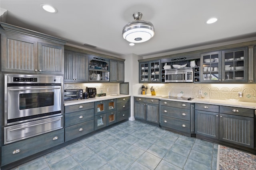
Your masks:
M86 121L78 125L65 128L65 141L75 139L94 131L94 120Z

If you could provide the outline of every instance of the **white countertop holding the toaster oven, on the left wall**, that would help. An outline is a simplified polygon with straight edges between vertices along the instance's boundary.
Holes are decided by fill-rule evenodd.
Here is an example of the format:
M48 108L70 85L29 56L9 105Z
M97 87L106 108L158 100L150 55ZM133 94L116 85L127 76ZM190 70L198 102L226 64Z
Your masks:
M101 96L101 97L95 97L95 98L88 98L88 99L80 99L80 100L71 100L71 101L65 101L64 106L70 106L74 104L83 104L83 103L89 103L89 102L97 102L97 101L102 101L102 100L110 100L110 99L116 99L116 98L124 98L128 97L130 95L126 94L120 94L118 96Z

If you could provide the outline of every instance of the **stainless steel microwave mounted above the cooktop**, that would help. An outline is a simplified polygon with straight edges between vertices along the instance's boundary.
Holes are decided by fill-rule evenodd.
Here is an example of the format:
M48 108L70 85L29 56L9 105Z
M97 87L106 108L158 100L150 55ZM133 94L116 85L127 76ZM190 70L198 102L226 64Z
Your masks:
M193 82L193 68L164 70L165 82Z

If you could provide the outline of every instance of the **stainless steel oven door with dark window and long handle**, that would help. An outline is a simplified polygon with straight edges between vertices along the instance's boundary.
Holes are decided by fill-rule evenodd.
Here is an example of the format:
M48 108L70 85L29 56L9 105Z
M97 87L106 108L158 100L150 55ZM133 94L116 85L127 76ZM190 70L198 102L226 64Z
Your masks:
M7 119L61 113L61 86L10 86Z

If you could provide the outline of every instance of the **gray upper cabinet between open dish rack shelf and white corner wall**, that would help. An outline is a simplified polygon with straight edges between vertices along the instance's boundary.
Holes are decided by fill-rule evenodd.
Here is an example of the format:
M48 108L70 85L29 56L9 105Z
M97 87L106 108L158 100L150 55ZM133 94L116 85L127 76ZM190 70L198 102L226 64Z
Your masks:
M110 82L124 82L124 62L110 60Z

